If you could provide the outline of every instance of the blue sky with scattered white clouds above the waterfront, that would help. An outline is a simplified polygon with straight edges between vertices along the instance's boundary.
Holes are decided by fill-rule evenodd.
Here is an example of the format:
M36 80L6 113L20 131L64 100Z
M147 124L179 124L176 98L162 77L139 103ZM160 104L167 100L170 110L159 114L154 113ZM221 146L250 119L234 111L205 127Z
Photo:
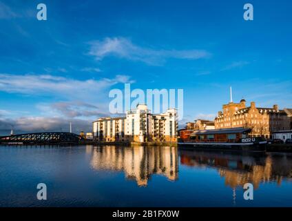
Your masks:
M0 0L0 130L90 130L112 88L184 89L184 120L292 107L291 1ZM254 20L244 21L244 3ZM0 132L1 133L1 132Z

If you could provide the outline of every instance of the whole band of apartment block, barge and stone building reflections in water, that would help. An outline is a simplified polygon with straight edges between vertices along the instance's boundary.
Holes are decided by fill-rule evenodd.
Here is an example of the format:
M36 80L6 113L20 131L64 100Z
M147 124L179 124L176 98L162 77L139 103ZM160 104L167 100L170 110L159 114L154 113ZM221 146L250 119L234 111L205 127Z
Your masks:
M197 168L217 169L226 186L236 189L245 183L258 189L261 183L292 181L292 155L265 153L220 153L215 151L185 151L169 146L94 146L90 164L95 170L124 171L125 177L138 186L147 186L152 175L178 179L178 162ZM178 160L178 155L180 160Z

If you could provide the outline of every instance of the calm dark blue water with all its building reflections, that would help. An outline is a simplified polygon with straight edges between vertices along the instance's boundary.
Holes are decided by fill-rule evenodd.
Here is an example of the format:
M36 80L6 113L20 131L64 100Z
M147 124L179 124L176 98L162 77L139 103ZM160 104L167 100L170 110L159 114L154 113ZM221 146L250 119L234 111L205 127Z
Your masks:
M292 155L0 146L0 206L292 206Z

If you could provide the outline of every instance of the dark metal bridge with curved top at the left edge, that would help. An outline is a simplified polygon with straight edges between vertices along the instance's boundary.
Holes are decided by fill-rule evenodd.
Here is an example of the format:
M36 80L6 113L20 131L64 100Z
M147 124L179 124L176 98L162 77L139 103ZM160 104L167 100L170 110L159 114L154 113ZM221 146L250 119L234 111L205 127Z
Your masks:
M0 137L0 143L11 144L78 144L81 140L83 137L67 132L23 133Z

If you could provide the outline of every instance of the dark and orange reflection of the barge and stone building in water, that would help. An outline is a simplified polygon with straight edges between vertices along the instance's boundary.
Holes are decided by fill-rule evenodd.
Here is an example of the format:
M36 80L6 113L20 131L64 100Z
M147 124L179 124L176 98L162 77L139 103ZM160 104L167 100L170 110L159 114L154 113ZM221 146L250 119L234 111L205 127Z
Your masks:
M266 155L264 153L219 153L207 151L180 151L180 164L218 169L225 177L225 185L232 189L253 184L292 181L292 155Z

